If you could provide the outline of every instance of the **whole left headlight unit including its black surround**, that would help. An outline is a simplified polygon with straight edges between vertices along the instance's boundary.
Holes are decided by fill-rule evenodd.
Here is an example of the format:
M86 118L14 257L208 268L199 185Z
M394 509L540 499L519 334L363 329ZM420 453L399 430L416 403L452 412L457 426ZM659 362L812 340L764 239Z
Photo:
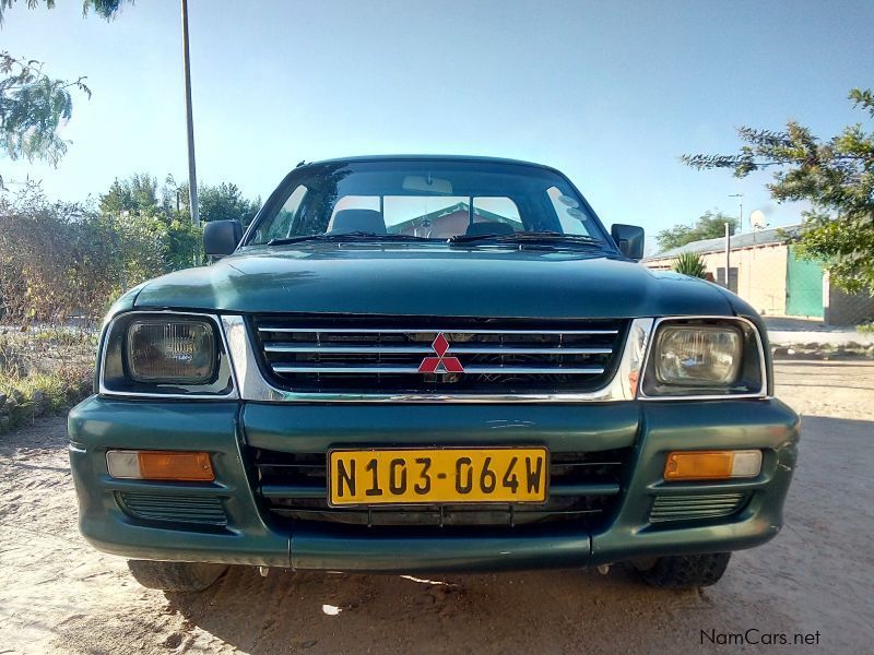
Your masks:
M106 327L99 393L126 396L235 397L217 317L128 312Z

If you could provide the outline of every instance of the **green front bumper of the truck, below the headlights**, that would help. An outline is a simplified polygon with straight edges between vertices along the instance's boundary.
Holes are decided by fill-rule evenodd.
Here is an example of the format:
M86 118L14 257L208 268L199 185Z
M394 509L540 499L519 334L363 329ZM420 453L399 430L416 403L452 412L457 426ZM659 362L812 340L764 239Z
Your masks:
M80 529L131 559L210 561L332 571L462 571L586 567L634 558L748 548L773 537L795 466L799 419L777 400L579 405L305 405L126 401L92 396L69 418ZM543 443L554 452L630 448L621 496L597 529L423 534L335 525L277 525L252 491L246 449L312 453L344 444L483 446ZM748 480L665 484L672 450L761 449ZM211 453L215 483L110 478L108 449ZM222 525L146 521L119 495L196 496L221 503ZM743 492L720 520L650 521L656 497Z

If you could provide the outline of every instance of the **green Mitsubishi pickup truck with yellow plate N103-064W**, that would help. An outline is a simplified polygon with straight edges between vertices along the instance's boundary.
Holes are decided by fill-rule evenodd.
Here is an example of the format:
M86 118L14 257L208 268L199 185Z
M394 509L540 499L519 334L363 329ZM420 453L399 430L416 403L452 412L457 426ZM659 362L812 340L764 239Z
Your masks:
M228 565L720 579L798 416L743 300L638 264L555 169L297 166L211 265L126 293L69 418L80 528L168 591Z

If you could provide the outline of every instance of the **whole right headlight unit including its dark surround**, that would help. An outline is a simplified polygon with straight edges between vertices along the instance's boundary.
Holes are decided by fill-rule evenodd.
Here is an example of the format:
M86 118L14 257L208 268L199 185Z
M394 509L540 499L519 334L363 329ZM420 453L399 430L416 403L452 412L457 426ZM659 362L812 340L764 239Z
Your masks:
M759 397L767 393L765 350L755 324L741 318L657 322L640 397Z

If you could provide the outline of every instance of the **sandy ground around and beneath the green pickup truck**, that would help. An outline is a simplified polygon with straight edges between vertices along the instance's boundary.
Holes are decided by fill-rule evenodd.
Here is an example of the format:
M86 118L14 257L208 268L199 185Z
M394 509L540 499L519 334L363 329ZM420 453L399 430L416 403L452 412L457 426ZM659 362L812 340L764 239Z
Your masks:
M748 629L872 652L874 362L778 376L804 415L786 528L702 592L651 590L621 568L432 581L240 568L204 594L165 595L79 536L64 421L45 419L0 437L0 653L709 652L702 630Z

